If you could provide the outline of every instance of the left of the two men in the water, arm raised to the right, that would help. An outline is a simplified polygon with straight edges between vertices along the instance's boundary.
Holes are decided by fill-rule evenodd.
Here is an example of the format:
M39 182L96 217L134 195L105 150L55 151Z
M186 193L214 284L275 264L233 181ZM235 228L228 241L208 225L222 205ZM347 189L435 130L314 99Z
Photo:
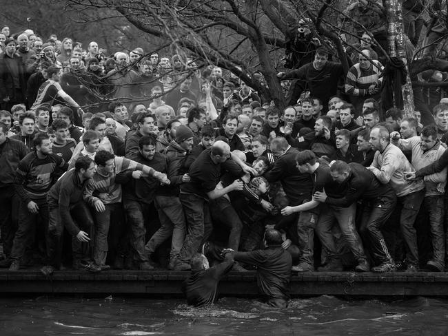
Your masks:
M218 282L234 266L232 253L226 253L221 264L210 268L205 255L196 253L190 260L192 273L182 284L182 291L192 306L212 304L218 296Z

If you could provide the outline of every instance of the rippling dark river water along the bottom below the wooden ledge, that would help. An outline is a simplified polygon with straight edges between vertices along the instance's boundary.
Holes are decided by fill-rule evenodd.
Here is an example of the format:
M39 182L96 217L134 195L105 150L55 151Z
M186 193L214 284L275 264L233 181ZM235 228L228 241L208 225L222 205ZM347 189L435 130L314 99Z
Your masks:
M227 297L191 308L181 299L0 299L0 335L448 335L448 300L383 302L320 296L278 311Z

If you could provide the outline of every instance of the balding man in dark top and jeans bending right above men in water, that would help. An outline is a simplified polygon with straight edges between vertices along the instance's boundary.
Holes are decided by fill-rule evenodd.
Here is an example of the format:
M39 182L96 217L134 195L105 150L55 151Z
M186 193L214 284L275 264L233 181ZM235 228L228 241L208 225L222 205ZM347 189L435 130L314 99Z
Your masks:
M243 190L241 180L234 180L231 185L216 189L221 177L221 163L228 158L230 158L230 146L223 141L216 141L192 163L188 171L188 180L181 184L179 198L187 218L188 231L179 258L174 262L176 271L190 271L190 259L212 232L208 201L230 191Z

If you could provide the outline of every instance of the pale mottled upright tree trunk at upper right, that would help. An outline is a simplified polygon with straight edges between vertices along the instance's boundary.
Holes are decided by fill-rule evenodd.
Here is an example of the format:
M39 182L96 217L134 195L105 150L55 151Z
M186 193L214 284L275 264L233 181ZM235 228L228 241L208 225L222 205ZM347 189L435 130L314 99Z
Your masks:
M383 6L387 12L389 56L402 59L407 70L406 83L401 87L403 94L403 109L405 116L414 116L414 94L412 92L411 77L409 76L409 66L406 57L401 3L398 0L383 0ZM394 97L394 106L395 105L396 97Z

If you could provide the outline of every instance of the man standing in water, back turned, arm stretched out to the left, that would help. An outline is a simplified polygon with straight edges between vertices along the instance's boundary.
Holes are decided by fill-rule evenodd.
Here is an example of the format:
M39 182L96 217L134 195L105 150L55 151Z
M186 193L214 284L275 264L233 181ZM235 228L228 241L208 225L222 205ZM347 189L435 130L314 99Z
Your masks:
M263 301L278 308L287 306L292 267L291 254L283 249L282 242L280 231L268 229L265 232L265 249L250 252L223 250L225 258L231 254L237 262L257 266L256 282Z

